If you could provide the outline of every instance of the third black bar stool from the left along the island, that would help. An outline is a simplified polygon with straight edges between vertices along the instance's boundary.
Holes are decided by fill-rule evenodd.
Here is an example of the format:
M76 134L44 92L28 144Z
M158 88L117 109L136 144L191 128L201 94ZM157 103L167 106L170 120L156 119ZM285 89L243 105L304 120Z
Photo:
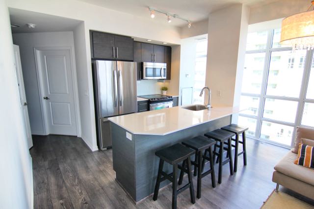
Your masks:
M234 174L233 162L232 162L232 154L231 154L231 149L232 149L231 138L233 136L235 136L235 134L231 133L229 131L216 129L216 130L214 130L212 132L206 133L205 136L210 138L210 139L214 139L217 142L219 142L219 144L215 144L214 145L214 151L213 151L214 159L213 159L213 161L215 161L215 155L217 155L219 157L218 184L221 184L222 166L224 164L229 163L230 175ZM225 141L228 142L228 147L227 148L224 147L224 142ZM219 146L219 152L216 152L216 147L217 146ZM224 152L224 149L228 151L229 158L227 158L225 161L222 161L222 154Z

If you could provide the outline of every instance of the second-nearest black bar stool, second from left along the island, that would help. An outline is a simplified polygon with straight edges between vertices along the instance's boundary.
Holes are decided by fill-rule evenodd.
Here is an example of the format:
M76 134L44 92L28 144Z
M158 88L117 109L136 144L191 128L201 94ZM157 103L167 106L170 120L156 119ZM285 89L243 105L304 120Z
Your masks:
M211 151L211 146L216 143L213 139L208 139L203 136L194 137L187 141L182 142L183 145L191 148L195 152L195 160L191 162L194 165L194 176L197 174L197 192L196 197L201 198L201 190L202 190L202 178L211 174L211 185L212 187L216 187L215 181L215 172L214 172L214 164L213 164L213 156ZM205 155L203 156L203 151L205 151ZM207 151L209 152L209 157L206 156ZM210 168L208 171L203 173L205 160L208 160L210 163ZM185 164L183 164L185 167ZM182 184L183 181L183 170L180 172L179 185Z

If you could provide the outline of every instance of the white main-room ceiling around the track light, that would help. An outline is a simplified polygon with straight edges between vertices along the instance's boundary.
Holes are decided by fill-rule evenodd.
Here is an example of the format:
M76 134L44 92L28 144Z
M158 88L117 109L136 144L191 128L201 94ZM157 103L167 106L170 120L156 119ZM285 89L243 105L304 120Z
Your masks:
M244 3L248 6L257 6L278 0L79 0L95 4L108 9L121 11L150 19L148 7L151 6L161 11L177 14L193 22L208 19L209 13L227 7L234 3ZM164 14L156 13L154 21L167 23ZM182 26L186 22L172 19L171 24Z

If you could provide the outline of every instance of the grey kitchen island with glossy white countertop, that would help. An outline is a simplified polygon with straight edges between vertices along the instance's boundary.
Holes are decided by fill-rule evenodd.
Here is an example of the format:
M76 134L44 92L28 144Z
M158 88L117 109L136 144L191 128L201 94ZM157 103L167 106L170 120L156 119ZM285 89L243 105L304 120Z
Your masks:
M137 203L154 192L159 158L155 152L204 135L231 123L238 107L192 111L173 107L110 117L113 169L116 180ZM172 172L165 163L164 171ZM164 181L160 188L169 184Z

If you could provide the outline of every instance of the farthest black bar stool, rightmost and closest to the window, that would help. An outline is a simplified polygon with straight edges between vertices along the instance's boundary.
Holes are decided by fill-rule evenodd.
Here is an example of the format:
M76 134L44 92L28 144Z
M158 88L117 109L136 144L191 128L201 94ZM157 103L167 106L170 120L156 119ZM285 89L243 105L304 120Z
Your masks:
M237 171L237 157L243 154L243 164L246 165L246 137L245 137L245 131L249 128L244 128L241 126L238 126L236 124L230 124L225 127L222 127L221 129L232 132L235 134L235 139L232 139L235 141L235 145L232 144L232 147L235 147L235 165L234 165L234 172ZM242 134L242 141L239 140L239 136ZM238 152L239 143L242 144L243 151Z

